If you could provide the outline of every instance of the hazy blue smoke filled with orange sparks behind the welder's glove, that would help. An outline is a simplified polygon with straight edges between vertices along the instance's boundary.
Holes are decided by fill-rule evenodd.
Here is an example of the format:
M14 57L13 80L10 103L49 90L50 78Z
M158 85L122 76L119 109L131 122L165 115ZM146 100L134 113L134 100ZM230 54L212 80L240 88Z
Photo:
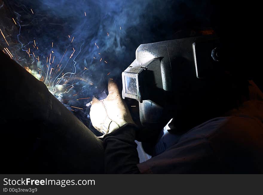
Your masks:
M0 13L0 28L13 59L39 74L92 128L85 107L91 99L82 98L104 98L108 79L121 82L136 48L169 39L186 15L209 20L201 16L203 7L204 1L181 0L0 0L1 11L9 10ZM200 12L191 13L196 9ZM7 47L4 40L0 44Z

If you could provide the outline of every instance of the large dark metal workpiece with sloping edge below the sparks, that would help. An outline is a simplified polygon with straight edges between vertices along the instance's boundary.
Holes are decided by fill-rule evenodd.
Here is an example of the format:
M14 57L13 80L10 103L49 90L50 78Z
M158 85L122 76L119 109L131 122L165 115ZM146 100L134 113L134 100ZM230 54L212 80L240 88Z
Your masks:
M0 58L2 172L103 173L102 141L43 82Z

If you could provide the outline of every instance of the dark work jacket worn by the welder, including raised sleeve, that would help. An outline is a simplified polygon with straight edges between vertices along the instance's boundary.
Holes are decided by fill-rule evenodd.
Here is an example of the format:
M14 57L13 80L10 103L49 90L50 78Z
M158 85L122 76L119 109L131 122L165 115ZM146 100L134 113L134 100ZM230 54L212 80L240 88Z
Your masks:
M263 173L263 94L254 84L250 100L238 109L194 127L143 163L134 142L137 130L126 124L104 137L106 173Z

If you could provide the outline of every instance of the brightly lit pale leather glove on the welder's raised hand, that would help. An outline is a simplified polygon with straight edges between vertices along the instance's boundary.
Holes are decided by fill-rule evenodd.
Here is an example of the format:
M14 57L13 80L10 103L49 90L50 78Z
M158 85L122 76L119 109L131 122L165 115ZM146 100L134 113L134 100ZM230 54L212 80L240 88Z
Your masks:
M108 82L108 96L98 100L93 97L90 109L90 118L93 127L103 136L111 133L126 123L134 123L129 109L120 96L117 84ZM101 136L101 137L103 137Z

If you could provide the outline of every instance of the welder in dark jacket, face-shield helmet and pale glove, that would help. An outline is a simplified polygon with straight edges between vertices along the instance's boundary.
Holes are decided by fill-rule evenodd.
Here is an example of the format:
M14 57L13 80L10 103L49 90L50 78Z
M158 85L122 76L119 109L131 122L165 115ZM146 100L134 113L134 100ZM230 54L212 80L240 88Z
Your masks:
M122 94L110 80L107 98L91 103L106 173L263 173L263 94L221 46L205 35L137 48ZM142 126L122 98L139 102ZM152 155L143 163L137 138Z

